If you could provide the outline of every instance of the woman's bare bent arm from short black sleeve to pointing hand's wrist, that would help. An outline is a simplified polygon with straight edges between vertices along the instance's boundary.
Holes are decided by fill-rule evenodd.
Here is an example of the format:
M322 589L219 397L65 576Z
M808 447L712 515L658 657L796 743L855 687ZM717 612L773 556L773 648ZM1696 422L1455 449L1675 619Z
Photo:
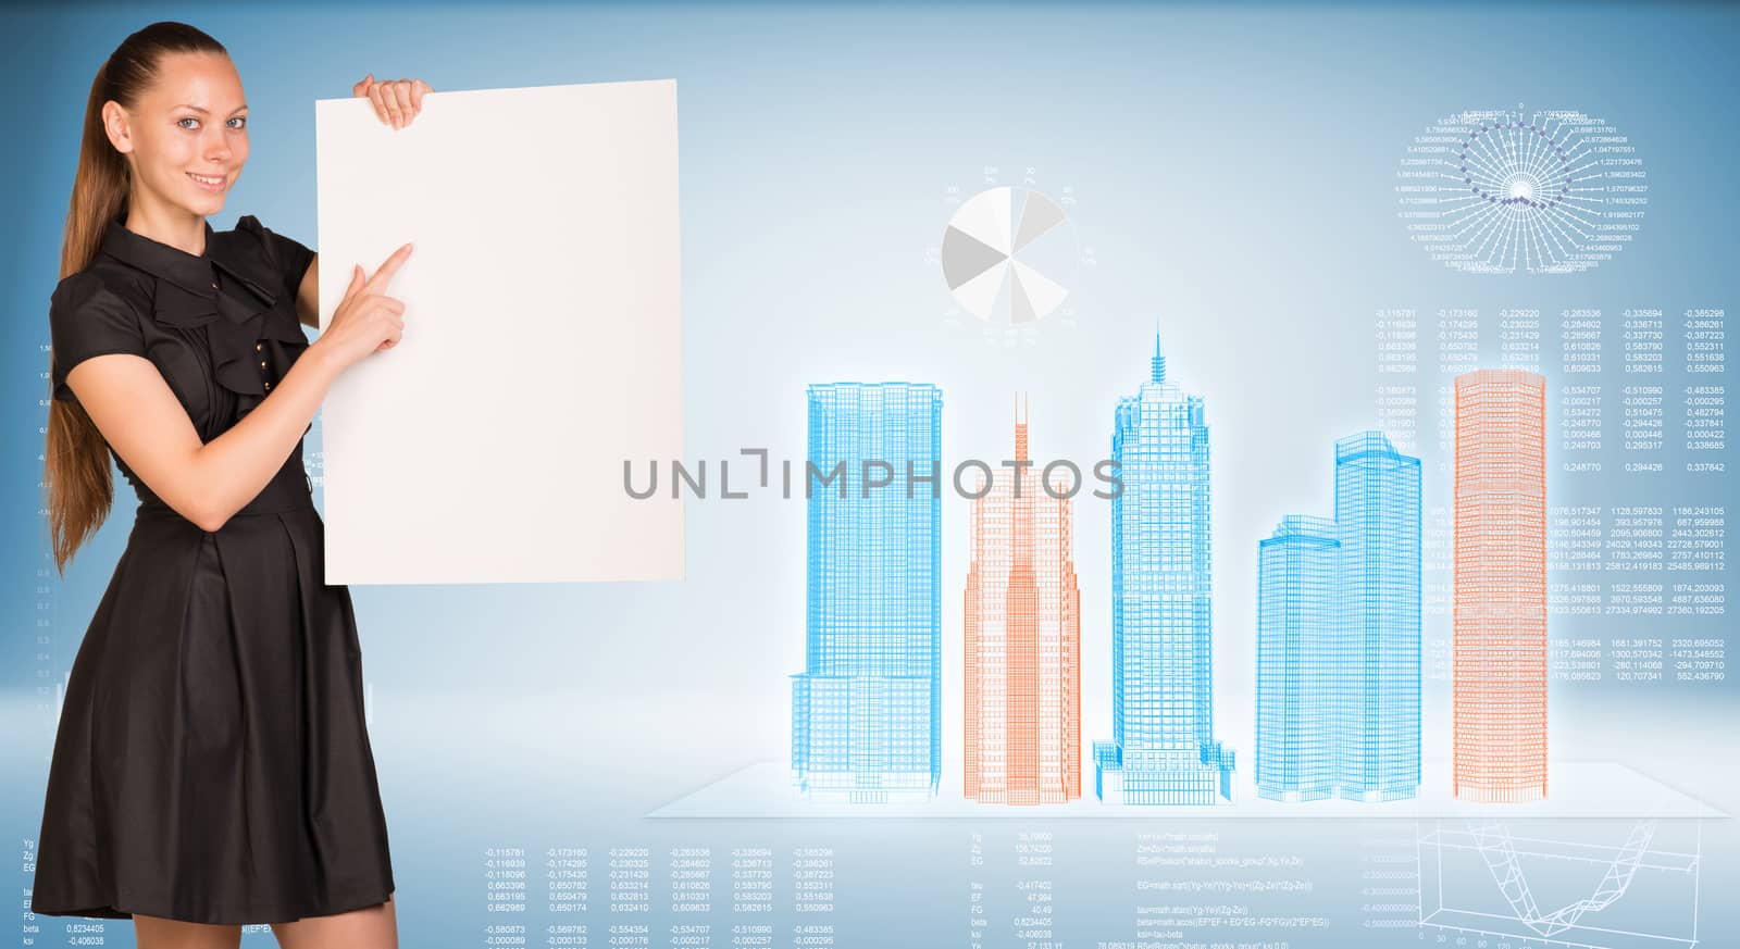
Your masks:
M186 408L144 356L90 356L66 374L85 414L165 504L216 532L252 501L296 450L341 365L317 339L235 426L200 441Z

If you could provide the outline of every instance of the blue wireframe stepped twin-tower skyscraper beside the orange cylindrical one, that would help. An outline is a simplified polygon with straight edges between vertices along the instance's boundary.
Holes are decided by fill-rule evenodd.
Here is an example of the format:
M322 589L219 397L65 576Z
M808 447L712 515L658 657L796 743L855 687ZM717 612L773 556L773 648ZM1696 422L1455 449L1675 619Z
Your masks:
M1335 443L1335 518L1258 546L1256 793L1420 787L1420 459L1380 431Z

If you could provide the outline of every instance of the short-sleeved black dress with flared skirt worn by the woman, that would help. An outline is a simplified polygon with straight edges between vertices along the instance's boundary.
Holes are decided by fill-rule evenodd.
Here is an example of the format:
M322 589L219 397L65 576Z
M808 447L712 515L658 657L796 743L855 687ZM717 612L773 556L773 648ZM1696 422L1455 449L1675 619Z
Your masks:
M308 348L311 259L252 216L205 224L198 257L110 221L54 289L54 398L77 402L80 360L134 353L211 441ZM31 909L278 923L385 902L362 647L348 587L324 582L301 441L216 532L120 469L139 508L66 685Z

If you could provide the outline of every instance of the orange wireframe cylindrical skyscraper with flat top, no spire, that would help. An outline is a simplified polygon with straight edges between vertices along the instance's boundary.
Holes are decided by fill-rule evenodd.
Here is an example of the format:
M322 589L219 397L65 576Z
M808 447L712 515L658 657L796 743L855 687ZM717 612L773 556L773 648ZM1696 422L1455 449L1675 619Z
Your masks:
M1547 796L1547 381L1456 377L1455 794Z

